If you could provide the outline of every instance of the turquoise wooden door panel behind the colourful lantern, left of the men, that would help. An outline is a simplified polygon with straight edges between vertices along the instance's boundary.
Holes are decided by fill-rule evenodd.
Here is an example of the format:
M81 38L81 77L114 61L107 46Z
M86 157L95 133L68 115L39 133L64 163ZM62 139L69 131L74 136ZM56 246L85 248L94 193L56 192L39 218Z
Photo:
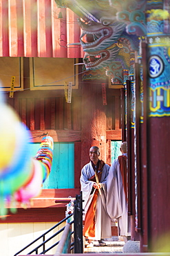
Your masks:
M34 157L40 143L30 143ZM54 143L52 170L43 183L43 189L74 188L74 143Z

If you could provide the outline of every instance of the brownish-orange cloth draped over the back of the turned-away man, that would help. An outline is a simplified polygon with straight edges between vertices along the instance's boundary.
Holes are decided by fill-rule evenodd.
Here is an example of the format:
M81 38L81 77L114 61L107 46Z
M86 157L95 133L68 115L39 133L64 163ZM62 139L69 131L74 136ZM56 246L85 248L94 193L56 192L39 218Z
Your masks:
M123 188L125 191L125 198L127 199L127 156L118 156L118 162L120 164L120 172L123 178Z

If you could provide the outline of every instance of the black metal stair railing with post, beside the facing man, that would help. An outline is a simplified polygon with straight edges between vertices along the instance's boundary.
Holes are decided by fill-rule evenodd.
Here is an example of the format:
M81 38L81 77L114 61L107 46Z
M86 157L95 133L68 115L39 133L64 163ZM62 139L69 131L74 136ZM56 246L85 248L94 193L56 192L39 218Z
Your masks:
M19 255L21 252L28 249L30 246L34 245L34 243L36 243L37 241L40 241L41 239L42 239L41 244L39 244L39 246L36 246L34 249L30 250L30 252L27 253L27 255L30 255L32 253L35 253L36 255L42 255L47 253L47 251L54 248L54 246L57 246L60 240L52 244L52 246L45 248L45 246L47 247L47 242L50 241L52 238L56 237L57 235L59 235L61 232L63 232L65 227L55 232L52 236L50 236L47 239L45 239L45 236L47 234L49 235L49 233L52 230L54 230L55 228L58 228L65 221L69 221L72 218L72 216L74 217L74 220L70 221L70 225L74 223L74 231L71 232L71 237L72 235L74 237L73 237L73 242L70 243L70 250L72 250L74 253L83 253L83 208L82 208L82 192L81 192L80 195L76 195L76 200L74 200L74 212L72 214L69 214L67 217L65 217L65 219L57 223L55 226L53 226L52 228L47 230L45 233L43 233L43 235L41 235L40 237L32 241L30 244L28 244L28 246L25 246L24 248L19 250L19 252L14 254L14 256ZM41 253L39 252L40 250L41 250Z

